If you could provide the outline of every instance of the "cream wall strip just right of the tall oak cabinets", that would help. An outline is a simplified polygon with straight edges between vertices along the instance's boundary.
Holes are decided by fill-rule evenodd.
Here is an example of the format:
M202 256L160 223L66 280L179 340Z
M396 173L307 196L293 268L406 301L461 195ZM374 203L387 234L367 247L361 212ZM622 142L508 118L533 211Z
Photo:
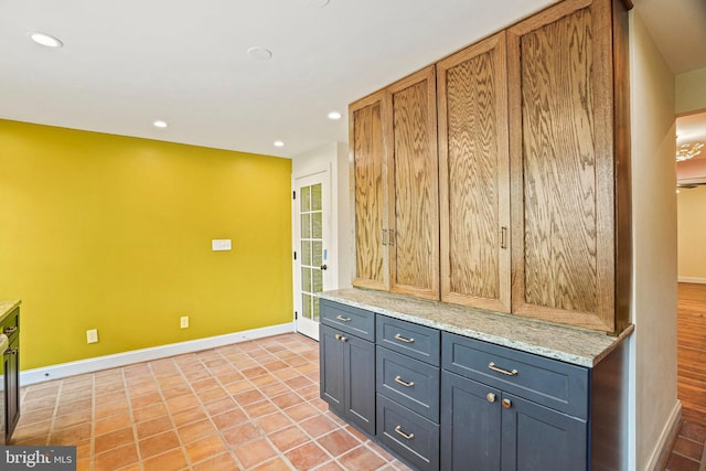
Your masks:
M651 470L678 419L674 75L630 14L632 128L631 469Z

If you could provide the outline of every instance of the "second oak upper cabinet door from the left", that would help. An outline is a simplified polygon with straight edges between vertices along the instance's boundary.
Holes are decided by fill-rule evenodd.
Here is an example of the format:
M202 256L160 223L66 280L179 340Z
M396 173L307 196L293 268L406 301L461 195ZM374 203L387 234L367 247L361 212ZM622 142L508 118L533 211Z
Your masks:
M439 299L439 165L435 67L391 85L391 290ZM385 121L385 120L384 120Z

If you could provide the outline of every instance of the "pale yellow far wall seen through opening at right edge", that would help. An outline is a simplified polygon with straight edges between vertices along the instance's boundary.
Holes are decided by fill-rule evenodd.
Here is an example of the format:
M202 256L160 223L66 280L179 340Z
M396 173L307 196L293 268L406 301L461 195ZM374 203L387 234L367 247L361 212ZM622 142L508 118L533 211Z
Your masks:
M706 280L706 186L681 190L676 196L680 235L680 277Z

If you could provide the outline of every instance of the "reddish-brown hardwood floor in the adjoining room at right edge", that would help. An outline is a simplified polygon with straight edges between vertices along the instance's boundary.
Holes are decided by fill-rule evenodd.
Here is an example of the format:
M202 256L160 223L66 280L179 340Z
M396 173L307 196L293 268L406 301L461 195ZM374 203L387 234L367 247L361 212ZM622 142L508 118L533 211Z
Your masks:
M706 427L706 285L680 283L677 395L684 420Z

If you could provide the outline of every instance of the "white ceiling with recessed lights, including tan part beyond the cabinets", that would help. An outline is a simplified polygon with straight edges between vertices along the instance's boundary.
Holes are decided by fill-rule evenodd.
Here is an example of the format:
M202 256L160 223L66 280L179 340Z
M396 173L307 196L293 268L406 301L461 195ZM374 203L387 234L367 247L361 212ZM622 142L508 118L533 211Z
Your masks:
M321 2L0 0L0 118L293 157L347 141L350 101L555 1ZM705 1L634 2L675 73L706 65Z

